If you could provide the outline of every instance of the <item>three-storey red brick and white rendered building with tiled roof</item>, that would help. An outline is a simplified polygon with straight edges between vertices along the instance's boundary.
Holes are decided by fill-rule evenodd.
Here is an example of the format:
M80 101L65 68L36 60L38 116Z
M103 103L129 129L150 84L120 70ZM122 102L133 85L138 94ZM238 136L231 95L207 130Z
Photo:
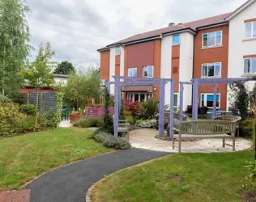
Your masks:
M236 11L190 23L169 23L98 49L100 78L113 75L138 78L176 78L174 104L179 103L178 82L191 78L241 78L256 74L256 0ZM250 86L253 86L250 83ZM165 103L170 102L166 85ZM217 86L217 107L228 109L228 86ZM110 92L113 94L113 86ZM159 86L126 86L126 99L158 97ZM191 105L192 86L184 88L183 108ZM199 86L198 106L213 106L213 87Z

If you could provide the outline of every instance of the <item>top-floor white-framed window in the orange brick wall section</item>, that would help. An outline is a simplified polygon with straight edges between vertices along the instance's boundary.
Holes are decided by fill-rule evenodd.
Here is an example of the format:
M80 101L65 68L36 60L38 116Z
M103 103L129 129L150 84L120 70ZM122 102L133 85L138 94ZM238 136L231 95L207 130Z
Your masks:
M222 31L203 34L203 48L222 45Z

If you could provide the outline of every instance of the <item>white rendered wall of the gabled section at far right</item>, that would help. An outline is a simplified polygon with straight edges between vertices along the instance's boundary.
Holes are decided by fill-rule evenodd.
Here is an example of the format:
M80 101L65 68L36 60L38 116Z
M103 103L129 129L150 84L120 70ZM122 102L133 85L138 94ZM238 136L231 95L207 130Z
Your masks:
M241 78L244 74L245 55L256 54L256 40L245 40L246 19L256 18L256 2L245 8L229 22L229 41L228 41L228 78ZM248 82L250 89L254 82ZM228 89L228 95L230 90ZM230 97L230 96L228 96ZM227 109L230 103L227 100Z

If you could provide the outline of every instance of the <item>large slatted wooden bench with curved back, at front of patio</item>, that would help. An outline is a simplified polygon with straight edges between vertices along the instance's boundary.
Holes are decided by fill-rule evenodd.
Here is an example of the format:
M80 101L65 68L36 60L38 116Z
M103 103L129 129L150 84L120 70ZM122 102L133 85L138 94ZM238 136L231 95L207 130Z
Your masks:
M182 139L223 139L223 147L228 145L225 143L225 139L232 139L233 147L235 150L235 132L236 122L222 121L222 120L206 120L206 121L188 121L181 122L178 129L173 128L179 134L173 136L173 149L174 139L177 139L179 153L181 153L181 140Z

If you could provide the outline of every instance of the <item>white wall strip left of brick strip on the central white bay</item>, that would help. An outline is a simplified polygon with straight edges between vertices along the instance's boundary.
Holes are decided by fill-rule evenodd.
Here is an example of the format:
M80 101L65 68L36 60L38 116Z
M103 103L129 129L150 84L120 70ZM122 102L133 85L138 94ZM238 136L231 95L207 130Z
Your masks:
M173 36L164 36L161 45L161 78L171 78ZM164 104L170 103L170 83L165 85Z

